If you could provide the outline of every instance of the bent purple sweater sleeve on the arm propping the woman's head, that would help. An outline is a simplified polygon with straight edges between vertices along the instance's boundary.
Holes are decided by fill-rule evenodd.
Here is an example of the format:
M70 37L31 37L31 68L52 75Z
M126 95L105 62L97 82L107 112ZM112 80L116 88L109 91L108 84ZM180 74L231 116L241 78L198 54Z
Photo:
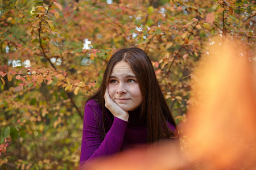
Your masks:
M102 140L102 110L95 101L88 101L84 109L80 168L88 160L119 152L127 124L127 121L114 117L110 130Z

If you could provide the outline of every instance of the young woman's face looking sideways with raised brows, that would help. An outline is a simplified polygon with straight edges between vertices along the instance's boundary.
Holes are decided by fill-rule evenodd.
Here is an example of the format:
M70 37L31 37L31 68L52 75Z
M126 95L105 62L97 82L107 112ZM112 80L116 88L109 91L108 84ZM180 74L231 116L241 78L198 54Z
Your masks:
M125 61L114 65L109 76L108 91L111 99L124 111L134 111L142 103L138 79Z

